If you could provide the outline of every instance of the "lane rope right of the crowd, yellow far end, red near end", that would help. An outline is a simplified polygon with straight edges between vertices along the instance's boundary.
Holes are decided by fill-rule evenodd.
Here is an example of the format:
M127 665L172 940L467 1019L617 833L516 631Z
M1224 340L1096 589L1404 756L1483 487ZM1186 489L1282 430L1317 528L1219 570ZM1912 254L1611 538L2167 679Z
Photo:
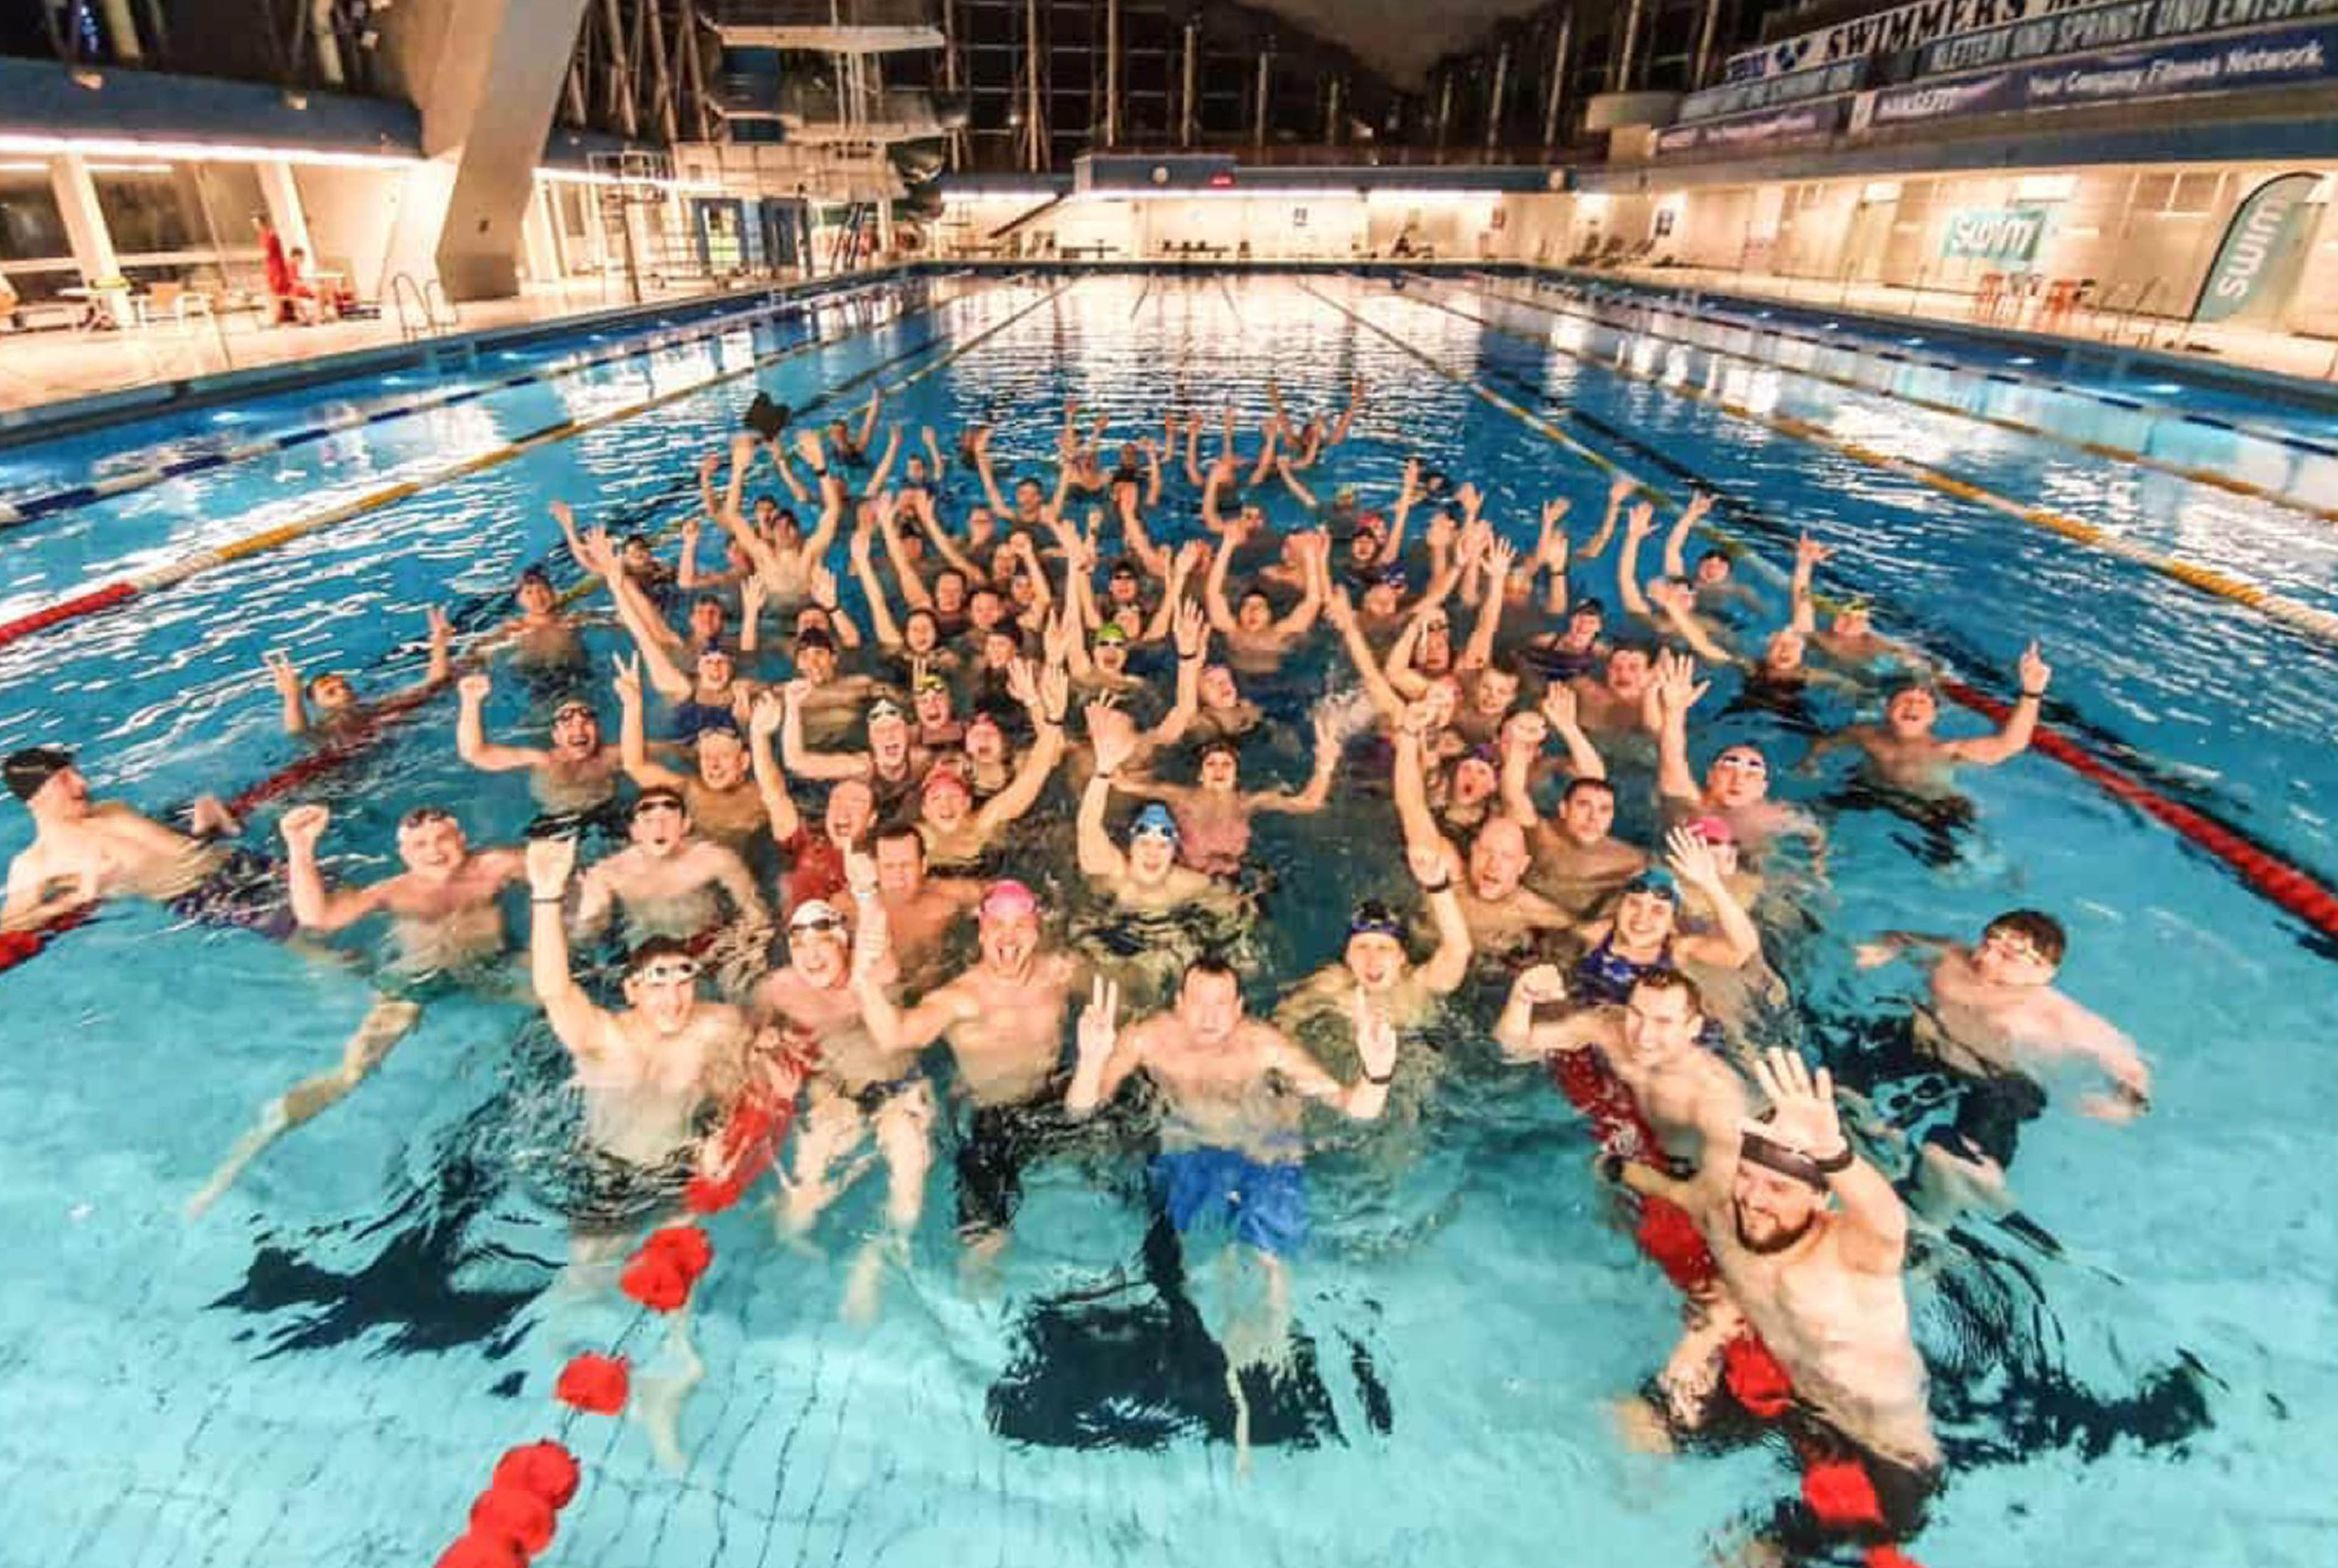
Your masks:
M1396 346L1400 353L1405 353L1412 360L1417 360L1419 365L1429 367L1433 374L1443 376L1445 381L1450 381L1454 386L1461 386L1461 388L1475 393L1480 400L1494 404L1503 414L1510 414L1522 425L1529 425L1538 435L1543 435L1550 442L1564 446L1569 453L1583 458L1597 472L1602 472L1606 477L1613 477L1613 479L1632 479L1639 488L1648 491L1658 500L1665 500L1667 505L1676 505L1669 495L1665 495L1662 488L1648 484L1639 474L1632 474L1630 470L1625 470L1620 463L1616 463L1606 453L1592 451L1583 442L1578 442L1571 435L1566 435L1564 430L1559 430L1552 421L1543 418L1541 414L1534 414L1531 409L1527 409L1527 407L1513 402L1510 397L1503 397L1494 388L1485 386L1485 381L1478 381L1478 379L1471 379L1471 376L1461 376L1461 374L1447 369L1436 358L1431 358L1429 353L1414 348L1412 344L1407 344L1398 334L1389 332L1379 322L1368 320L1358 311L1351 311L1349 306L1344 306L1337 299L1330 299L1330 297L1316 292L1314 287L1309 287L1305 283L1300 287L1307 294L1312 294L1314 299L1319 299L1321 304L1326 304L1333 311L1340 311L1342 315L1347 315L1349 320L1354 320L1365 332L1372 332L1375 337L1379 337L1386 344ZM1436 301L1426 301L1426 304L1436 304ZM1461 315L1459 311L1454 311L1454 313ZM1510 337L1517 337L1517 334L1510 334ZM1536 341L1536 339L1527 339L1527 341ZM1758 563L1765 573L1772 575L1772 580L1784 580L1784 570L1775 561L1770 561L1768 556L1763 556L1746 540L1739 540L1739 537L1730 535L1728 530L1714 526L1711 516L1707 516L1700 526L1707 533L1711 533L1714 537L1718 537L1725 544L1735 547L1739 554L1744 554L1754 563ZM2001 703L1999 699L1980 692L1978 687L1973 687L1973 685L1969 685L1964 680L1945 680L1941 685L1941 689L1955 703L1959 703L1962 708L1980 713L1983 717L1987 717L1994 724L2004 724L2006 715L2011 713L2006 703ZM2055 731L2055 729L2050 729L2046 724L2036 727L2036 731L2032 734L2029 745L2036 752L2041 752L2041 755L2060 762L2062 766L2071 769L2074 773L2078 773L2088 783L2097 785L2100 790L2104 790L2114 799L2121 799L2128 806L2132 806L2132 809L2151 816L2153 820L2172 827L2181 839L2186 839L2188 844L2193 844L2200 851L2205 851L2205 853L2214 855L2216 860L2221 860L2242 881L2242 886L2247 886L2251 893L2256 893L2259 897L2273 902L2275 907L2284 909L2287 914L2296 916L2298 921L2305 921L2308 925L2312 925L2324 937L2338 942L2338 893L2331 893L2331 888L2324 886L2322 881L2317 881L2310 872L2298 869L2296 865L2291 865L2282 855L2273 853L2263 844L2259 844L2259 841L2249 839L2247 834L2242 834L2240 830L2235 830L2230 823L2221 823L2214 816L2209 816L2209 813L2205 813L2205 811L2200 811L2195 806L2186 806L2184 802L2170 799L2160 790L2156 790L2149 783L2144 783L2144 780L2139 780L2139 778L2121 771L2118 766L2104 762L2095 752L2085 750L2083 745L2078 745L2069 736L2064 736L2064 734L2060 734L2060 731Z

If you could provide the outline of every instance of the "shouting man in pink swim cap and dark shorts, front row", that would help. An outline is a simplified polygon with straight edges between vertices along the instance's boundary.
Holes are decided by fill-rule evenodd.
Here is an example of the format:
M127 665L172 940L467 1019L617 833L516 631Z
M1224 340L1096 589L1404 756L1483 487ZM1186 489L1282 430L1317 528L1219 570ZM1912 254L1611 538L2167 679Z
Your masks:
M994 881L975 907L980 956L956 979L898 1007L863 986L870 1033L900 1049L945 1040L968 1101L959 1143L959 1236L970 1267L1005 1246L1022 1203L1022 1171L1073 1140L1064 1117L1064 1010L1078 960L1050 951L1038 897L1019 881Z

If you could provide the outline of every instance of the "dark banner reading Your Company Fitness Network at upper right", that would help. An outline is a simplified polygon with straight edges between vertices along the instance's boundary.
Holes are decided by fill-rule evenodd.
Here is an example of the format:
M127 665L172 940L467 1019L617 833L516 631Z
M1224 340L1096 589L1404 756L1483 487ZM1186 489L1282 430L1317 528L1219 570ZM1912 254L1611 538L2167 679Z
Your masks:
M2121 49L1952 82L1887 86L1875 93L1870 122L1896 126L1962 115L2294 86L2331 77L2338 77L2338 23L2322 23L2317 28L2242 33L2226 40Z

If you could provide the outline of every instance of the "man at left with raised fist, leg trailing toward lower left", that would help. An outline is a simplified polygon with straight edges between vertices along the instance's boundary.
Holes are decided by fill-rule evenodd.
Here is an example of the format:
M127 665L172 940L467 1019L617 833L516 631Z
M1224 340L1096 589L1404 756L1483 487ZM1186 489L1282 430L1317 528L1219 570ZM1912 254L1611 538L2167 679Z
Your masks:
M292 914L302 930L334 932L372 914L390 916L388 963L393 991L447 974L477 974L505 951L498 895L526 876L517 848L475 851L461 823L437 806L416 806L397 823L397 858L404 872L365 888L330 888L316 865L316 844L332 820L327 806L295 806L276 830L285 839ZM234 1185L276 1138L339 1105L362 1084L421 1021L411 995L376 995L358 1033L341 1047L341 1066L304 1077L260 1108L260 1122L203 1189L187 1201L187 1217L201 1215Z

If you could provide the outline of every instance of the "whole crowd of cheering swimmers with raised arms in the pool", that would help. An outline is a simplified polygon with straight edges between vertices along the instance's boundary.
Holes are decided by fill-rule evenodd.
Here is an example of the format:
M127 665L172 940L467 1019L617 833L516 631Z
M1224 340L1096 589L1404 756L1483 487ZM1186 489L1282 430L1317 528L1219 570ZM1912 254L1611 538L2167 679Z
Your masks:
M1959 769L2027 748L2050 668L2032 645L2006 722L1945 738L1924 661L1861 601L1821 624L1826 549L1798 547L1789 619L1758 636L1732 556L1688 558L1702 495L1660 528L1618 479L1590 537L1569 537L1566 502L1506 537L1471 484L1419 460L1377 500L1326 484L1361 402L1358 383L1344 411L1300 423L1277 390L1256 446L1232 414L1216 430L1171 414L1118 453L1073 404L1052 474L1003 488L987 428L954 456L928 428L902 458L872 400L858 428L706 456L678 561L554 505L606 612L528 568L517 617L461 657L430 617L407 692L269 657L283 727L311 743L411 722L451 687L461 759L524 776L540 809L524 844L472 844L423 804L397 820L402 869L344 881L320 860L325 804L288 809L269 853L238 844L215 799L154 820L94 799L75 757L40 745L5 762L35 837L0 923L108 897L304 944L388 921L341 1061L267 1103L194 1210L456 988L540 1007L566 1047L580 1262L615 1255L692 1178L736 1175L725 1126L743 1105L793 1110L786 1236L881 1164L849 1313L874 1306L919 1224L938 1124L977 1278L1033 1164L1143 1150L1178 1234L1256 1264L1260 1358L1288 1337L1309 1136L1323 1117L1382 1119L1400 1077L1436 1070L1433 1024L1494 1014L1501 1054L1545 1063L1590 1119L1597 1173L1681 1288L1679 1346L1625 1407L1632 1439L1782 1423L1805 1465L1849 1463L1863 1486L1856 1507L1817 1510L1817 1540L1903 1540L1941 1472L1903 1285L1910 1201L2004 1208L2041 1075L2097 1075L2078 1108L2100 1117L2146 1110L2149 1075L2128 1035L2055 988L2062 925L2015 909L1976 939L1856 949L1861 967L1929 965L1908 1049L1948 1082L1929 1129L1859 1115L1772 1028L1784 981L1765 949L1826 876L1826 830L1772 797L1758 743L1700 771L1693 720L1725 671L1732 715L1817 734L1814 757L1856 750L1863 788L1936 825ZM748 500L758 474L779 491ZM1595 575L1613 610L1578 589ZM587 643L610 624L622 652L603 678ZM1281 689L1307 657L1328 657L1337 687L1307 724L1244 694ZM540 699L540 736L489 738L500 673ZM1814 731L1821 689L1880 720ZM1300 783L1244 778L1293 752ZM1611 762L1632 790L1646 780L1651 841L1616 837ZM1068 846L1059 816L1033 816L1057 790ZM1256 823L1335 802L1340 830L1298 830L1307 853L1372 865L1393 806L1410 893L1358 902L1337 953L1253 1014L1272 977L1246 935L1291 895L1263 874ZM512 888L524 972L505 963ZM1066 939L1068 904L1118 935ZM947 1080L928 1070L938 1042ZM1887 1173L1887 1154L1908 1159Z

